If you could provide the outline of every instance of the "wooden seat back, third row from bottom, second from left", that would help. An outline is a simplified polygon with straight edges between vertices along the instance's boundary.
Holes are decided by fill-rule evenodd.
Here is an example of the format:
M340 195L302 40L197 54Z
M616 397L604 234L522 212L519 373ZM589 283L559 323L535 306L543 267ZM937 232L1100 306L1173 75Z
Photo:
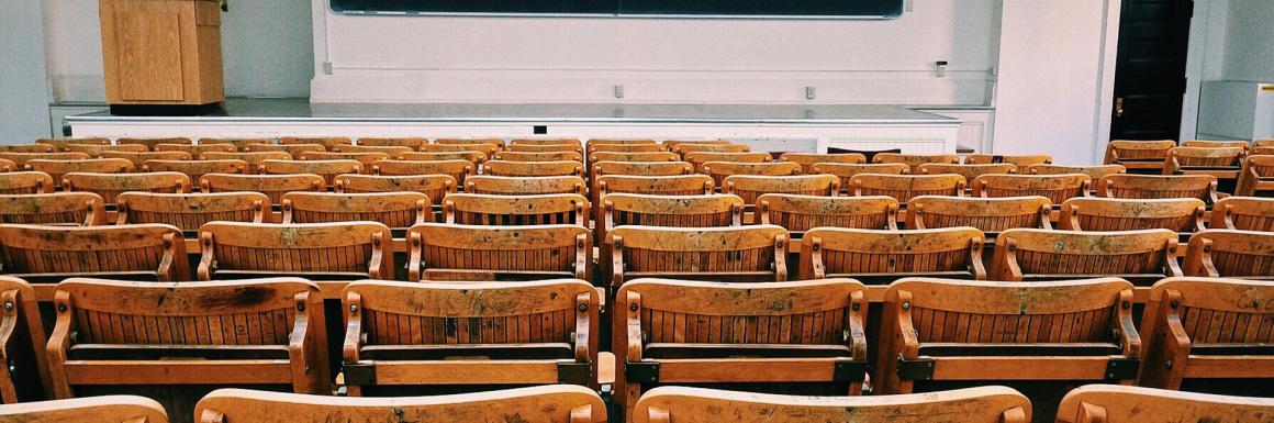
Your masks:
M392 279L392 240L390 228L376 222L210 222L199 228L197 278Z

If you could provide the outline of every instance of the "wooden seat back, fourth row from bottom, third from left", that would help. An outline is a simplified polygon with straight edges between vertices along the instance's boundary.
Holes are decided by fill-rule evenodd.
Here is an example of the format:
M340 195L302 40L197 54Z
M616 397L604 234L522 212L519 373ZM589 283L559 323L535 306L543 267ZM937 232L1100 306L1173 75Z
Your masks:
M412 191L335 194L288 192L283 195L283 223L380 222L391 229L433 222L428 195Z

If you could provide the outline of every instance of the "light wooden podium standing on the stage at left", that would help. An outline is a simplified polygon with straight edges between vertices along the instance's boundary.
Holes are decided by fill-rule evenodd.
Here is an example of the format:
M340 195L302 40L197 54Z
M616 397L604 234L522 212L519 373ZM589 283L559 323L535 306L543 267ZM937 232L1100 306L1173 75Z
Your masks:
M204 115L225 102L217 0L99 0L113 115Z

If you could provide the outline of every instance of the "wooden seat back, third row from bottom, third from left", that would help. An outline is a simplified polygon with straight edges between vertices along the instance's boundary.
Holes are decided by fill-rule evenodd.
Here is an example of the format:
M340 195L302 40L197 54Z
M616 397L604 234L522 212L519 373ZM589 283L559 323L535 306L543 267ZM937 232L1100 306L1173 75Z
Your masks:
M409 280L587 280L592 274L592 238L573 224L427 223L412 228L408 246Z

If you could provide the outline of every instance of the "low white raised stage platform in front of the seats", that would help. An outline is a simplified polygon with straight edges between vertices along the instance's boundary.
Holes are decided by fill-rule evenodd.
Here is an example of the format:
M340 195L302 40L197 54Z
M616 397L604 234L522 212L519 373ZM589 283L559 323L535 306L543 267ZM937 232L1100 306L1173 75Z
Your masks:
M902 148L954 153L959 118L898 106L754 104L311 104L232 98L196 117L68 117L75 136L580 136L722 138L773 152Z

